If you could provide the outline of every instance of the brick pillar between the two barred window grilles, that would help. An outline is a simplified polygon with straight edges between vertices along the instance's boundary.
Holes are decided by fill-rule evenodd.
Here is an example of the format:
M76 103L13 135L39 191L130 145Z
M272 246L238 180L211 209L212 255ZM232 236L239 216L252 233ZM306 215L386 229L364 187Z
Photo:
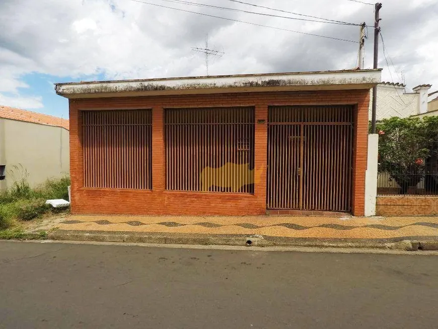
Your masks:
M152 189L164 191L166 188L164 149L164 109L152 109Z

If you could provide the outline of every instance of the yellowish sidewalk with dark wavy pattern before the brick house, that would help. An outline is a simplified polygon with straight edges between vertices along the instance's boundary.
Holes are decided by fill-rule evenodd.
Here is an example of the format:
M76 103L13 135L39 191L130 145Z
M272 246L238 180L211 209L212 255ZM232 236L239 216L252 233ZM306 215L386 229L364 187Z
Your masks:
M438 217L71 215L56 227L49 239L438 249Z

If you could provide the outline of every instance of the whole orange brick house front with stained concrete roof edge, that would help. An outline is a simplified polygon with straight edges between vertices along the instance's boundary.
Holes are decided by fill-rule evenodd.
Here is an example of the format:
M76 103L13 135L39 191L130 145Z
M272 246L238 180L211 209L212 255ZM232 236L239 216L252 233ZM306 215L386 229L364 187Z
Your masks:
M56 84L71 212L363 215L380 70Z

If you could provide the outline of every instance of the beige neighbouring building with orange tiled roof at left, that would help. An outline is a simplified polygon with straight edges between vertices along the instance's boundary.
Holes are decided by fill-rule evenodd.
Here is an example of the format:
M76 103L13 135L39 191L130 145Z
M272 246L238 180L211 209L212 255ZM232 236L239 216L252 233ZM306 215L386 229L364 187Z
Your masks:
M26 177L31 186L69 173L68 120L0 106L0 190Z

